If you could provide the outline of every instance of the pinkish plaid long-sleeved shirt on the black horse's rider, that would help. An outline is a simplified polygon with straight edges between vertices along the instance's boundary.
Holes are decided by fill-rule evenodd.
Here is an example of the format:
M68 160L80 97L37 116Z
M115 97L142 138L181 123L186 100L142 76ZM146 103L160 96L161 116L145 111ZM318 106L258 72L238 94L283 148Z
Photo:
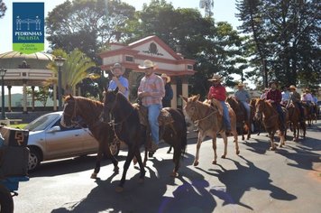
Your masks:
M165 96L164 81L152 73L150 77L142 78L138 92L151 92L151 97L142 97L143 106L161 104L161 99Z

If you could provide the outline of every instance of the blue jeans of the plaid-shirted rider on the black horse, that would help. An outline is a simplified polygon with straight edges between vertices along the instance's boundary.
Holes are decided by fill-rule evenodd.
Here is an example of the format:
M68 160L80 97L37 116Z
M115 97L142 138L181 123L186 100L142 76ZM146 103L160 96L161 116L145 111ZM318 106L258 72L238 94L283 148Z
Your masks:
M160 143L159 116L161 113L161 104L146 106L148 108L148 122L151 127L151 140L155 144Z

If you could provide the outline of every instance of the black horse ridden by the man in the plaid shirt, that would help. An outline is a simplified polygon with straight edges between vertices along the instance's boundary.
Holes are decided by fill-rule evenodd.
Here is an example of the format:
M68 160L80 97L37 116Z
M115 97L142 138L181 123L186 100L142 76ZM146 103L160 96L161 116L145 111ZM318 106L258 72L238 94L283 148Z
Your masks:
M119 93L118 88L116 88L115 91L105 91L104 105L104 117L109 117L109 114L114 116L115 134L121 141L128 145L128 154L124 163L123 176L118 186L118 191L121 191L124 189L126 171L133 156L136 157L141 169L140 179L143 180L144 178L145 171L143 169L139 148L142 144L145 144L146 148L149 132L147 132L148 127L141 124L137 107L134 107L122 93ZM165 110L172 117L173 123L160 126L160 139L163 139L174 148L173 162L175 163L175 167L171 176L177 177L179 158L184 155L187 146L187 127L185 117L179 110L169 107L166 107ZM147 152L145 152L145 159L146 156Z

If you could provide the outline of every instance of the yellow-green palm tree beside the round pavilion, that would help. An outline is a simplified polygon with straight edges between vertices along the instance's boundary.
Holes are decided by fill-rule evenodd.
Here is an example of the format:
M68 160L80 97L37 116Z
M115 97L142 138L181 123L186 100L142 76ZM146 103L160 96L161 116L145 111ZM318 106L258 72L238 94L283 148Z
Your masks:
M96 79L99 76L95 73L87 73L87 69L96 67L95 62L88 58L85 53L75 49L67 54L65 51L58 49L53 51L53 55L65 58L65 62L61 67L61 87L64 94L75 94L77 84L86 78ZM51 69L58 76L59 68L54 61L50 62L48 69ZM57 84L57 78L48 79L45 85Z

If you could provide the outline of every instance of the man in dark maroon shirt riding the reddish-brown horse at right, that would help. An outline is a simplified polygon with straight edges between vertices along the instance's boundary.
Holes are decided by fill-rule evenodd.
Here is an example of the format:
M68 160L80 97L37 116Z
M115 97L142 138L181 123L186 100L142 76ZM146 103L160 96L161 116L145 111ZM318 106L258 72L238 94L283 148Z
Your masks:
M270 90L266 94L266 100L272 104L279 113L280 117L280 130L284 131L285 130L285 118L283 115L282 107L280 106L280 101L282 98L280 90L277 88L277 82L276 81L271 81L269 83Z

